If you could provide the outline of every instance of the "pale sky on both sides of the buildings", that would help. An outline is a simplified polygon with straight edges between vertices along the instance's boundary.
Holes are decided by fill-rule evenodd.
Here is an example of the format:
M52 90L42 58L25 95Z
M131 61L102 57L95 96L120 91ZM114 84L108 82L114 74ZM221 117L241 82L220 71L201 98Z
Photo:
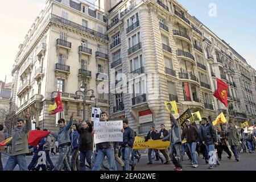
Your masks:
M4 1L0 6L0 80L7 76L11 82L11 69L29 28L46 0ZM177 0L191 15L195 15L226 43L230 44L256 69L256 1L246 3L234 0ZM216 14L209 15L209 5L216 5ZM212 6L211 6L212 7ZM212 12L212 11L210 11ZM215 11L214 11L215 13Z

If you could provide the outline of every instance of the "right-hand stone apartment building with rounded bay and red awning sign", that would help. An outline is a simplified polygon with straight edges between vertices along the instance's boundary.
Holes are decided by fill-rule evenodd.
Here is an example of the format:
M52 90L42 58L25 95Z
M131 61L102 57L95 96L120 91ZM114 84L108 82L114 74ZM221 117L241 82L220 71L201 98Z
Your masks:
M189 108L213 121L224 112L236 125L255 122L254 69L177 1L122 1L108 13L113 117L126 117L139 134L161 123L169 128L164 101L176 100L180 113ZM216 78L229 85L228 109L212 96Z

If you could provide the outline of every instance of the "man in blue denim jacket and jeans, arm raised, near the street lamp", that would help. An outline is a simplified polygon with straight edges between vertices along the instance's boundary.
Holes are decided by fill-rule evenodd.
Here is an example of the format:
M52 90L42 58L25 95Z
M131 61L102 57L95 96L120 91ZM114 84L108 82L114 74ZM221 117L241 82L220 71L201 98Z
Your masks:
M59 134L51 133L53 137L57 139L57 142L59 143L59 158L57 159L54 167L54 171L60 171L61 167L63 165L63 162L65 162L65 167L68 171L71 171L71 168L68 164L67 154L68 154L68 148L71 144L71 140L69 137L69 132L71 130L71 126L73 123L73 116L74 112L72 112L70 120L67 125L65 125L65 119L61 118L58 121L58 125L60 127Z

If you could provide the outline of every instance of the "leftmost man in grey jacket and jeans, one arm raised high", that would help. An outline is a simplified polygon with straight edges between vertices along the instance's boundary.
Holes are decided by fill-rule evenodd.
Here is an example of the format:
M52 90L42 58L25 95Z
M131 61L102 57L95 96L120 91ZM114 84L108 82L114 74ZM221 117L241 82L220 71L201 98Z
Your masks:
M23 119L18 119L17 127L11 140L11 155L9 156L4 171L13 171L18 164L20 171L27 171L26 154L28 153L28 132L31 130L30 111L24 113L26 124Z

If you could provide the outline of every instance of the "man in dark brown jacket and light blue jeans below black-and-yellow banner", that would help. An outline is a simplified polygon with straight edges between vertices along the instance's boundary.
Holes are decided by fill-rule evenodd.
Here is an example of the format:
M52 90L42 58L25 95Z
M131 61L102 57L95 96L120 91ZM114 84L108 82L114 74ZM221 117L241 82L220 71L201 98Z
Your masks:
M192 157L192 167L197 168L198 163L196 160L196 140L199 138L199 133L195 126L191 125L190 119L186 120L187 126L183 129L183 133L181 135L181 139L187 140L189 151L191 152Z

